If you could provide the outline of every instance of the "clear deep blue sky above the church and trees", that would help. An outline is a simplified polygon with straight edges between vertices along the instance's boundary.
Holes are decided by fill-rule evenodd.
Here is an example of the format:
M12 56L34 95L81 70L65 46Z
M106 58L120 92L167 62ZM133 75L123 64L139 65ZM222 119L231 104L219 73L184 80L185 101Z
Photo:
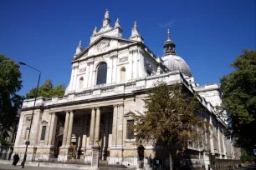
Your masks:
M163 53L166 30L199 84L219 82L232 71L230 63L243 48L256 49L254 0L227 1L0 1L0 53L26 62L42 72L41 84L51 78L64 82L79 40L87 47L105 9L111 25L120 19L123 37L131 36L136 20L146 46ZM25 94L37 83L37 72L21 67Z

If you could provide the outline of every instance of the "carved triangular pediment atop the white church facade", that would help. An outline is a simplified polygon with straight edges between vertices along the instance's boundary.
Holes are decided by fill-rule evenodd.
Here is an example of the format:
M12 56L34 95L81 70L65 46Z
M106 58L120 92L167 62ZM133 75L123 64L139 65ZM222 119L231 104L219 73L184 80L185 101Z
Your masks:
M116 45L115 45L116 43ZM117 43L119 43L117 45ZM81 57L87 57L93 55L97 55L102 52L108 52L111 49L122 47L125 45L130 45L137 43L136 41L124 39L120 37L110 37L110 36L100 36L94 42L92 42L88 47L86 47L82 52L80 52L76 57L74 57L74 61L79 60ZM92 52L93 51L93 52Z

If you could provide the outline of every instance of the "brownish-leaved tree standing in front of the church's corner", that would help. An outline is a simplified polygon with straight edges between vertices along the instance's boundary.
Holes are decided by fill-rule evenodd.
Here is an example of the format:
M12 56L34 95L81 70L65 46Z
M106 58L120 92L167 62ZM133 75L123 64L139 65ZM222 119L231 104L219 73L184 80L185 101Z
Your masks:
M170 169L172 159L178 159L189 143L202 142L209 133L210 125L198 117L202 109L197 97L185 91L178 84L156 82L147 92L145 114L135 115L136 123L131 125L138 146L161 143L168 149Z

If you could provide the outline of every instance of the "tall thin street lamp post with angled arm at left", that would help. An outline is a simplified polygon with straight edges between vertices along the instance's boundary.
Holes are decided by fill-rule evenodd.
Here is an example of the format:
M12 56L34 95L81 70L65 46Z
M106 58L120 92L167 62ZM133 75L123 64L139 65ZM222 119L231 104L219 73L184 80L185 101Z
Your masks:
M23 65L23 66L28 66L26 63L24 62L18 62L20 65ZM28 66L28 67L31 67L31 66ZM39 77L38 77L38 86L39 86L39 82L40 82L40 77L41 77L41 72L34 68L34 67L31 67L32 69L36 70L39 72ZM38 97L38 86L36 88L36 92L35 92L35 95L34 95L34 102L33 102L33 111L32 111L32 117L31 117L31 120L30 120L30 126L29 126L29 129L28 129L28 139L26 141L26 149L25 149L25 154L24 154L24 158L23 158L23 166L22 168L24 168L25 166L25 163L26 163L26 158L27 158L27 150L28 150L28 145L29 145L29 137L30 137L30 132L31 132L31 126L32 126L32 122L33 122L33 112L34 112L34 108L35 108L35 104L37 102L37 97Z

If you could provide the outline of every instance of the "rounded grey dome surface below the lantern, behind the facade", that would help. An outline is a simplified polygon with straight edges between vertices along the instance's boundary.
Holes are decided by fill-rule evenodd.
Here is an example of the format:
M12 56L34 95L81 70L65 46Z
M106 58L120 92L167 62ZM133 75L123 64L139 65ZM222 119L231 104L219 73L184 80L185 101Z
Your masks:
M187 62L177 55L166 55L161 57L166 67L169 68L171 72L180 71L188 77L192 77L190 68L187 65Z

